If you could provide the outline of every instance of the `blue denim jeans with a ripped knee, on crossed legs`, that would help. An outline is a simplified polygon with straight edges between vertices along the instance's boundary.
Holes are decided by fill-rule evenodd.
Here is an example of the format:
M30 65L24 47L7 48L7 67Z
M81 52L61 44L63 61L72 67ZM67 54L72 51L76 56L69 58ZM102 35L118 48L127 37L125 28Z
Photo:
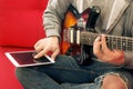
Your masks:
M80 66L70 56L59 56L54 65L17 68L16 73L24 89L101 89L106 73L119 75L133 89L132 76L121 67L96 60Z

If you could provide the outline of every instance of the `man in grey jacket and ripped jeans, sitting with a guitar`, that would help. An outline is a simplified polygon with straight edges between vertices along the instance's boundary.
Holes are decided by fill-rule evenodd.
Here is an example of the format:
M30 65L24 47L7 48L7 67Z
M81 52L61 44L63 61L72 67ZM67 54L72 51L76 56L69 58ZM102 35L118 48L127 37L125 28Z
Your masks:
M91 6L101 9L95 31L102 33L93 43L92 62L81 66L72 56L60 56L61 24L72 4L79 12ZM111 50L105 34L133 37L132 0L50 0L43 14L47 38L34 49L35 59L52 52L54 65L18 68L17 76L24 89L133 89L132 51ZM131 42L132 43L132 42ZM133 49L133 46L132 48Z

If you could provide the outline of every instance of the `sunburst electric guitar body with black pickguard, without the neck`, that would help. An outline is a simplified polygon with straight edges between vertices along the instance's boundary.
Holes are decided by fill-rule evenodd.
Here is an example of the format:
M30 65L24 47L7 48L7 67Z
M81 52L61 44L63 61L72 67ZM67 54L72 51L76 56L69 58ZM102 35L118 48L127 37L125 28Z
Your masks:
M79 13L73 6L69 7L63 20L61 53L76 57L81 65L89 65L91 59L90 47L74 43L75 41L78 42L78 36L75 34L80 31L93 31L99 14L100 8L96 6L88 8L82 13ZM71 28L74 30L70 30ZM70 31L73 34L71 33L70 36ZM71 42L69 40L70 37L73 39Z

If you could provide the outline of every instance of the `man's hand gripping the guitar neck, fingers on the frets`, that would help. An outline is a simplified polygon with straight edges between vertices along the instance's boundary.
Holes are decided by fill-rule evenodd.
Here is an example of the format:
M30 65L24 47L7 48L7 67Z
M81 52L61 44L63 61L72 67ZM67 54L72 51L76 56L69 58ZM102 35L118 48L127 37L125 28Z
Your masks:
M95 39L93 43L93 52L102 62L112 65L122 65L124 62L124 52L120 50L110 50L106 46L104 34Z

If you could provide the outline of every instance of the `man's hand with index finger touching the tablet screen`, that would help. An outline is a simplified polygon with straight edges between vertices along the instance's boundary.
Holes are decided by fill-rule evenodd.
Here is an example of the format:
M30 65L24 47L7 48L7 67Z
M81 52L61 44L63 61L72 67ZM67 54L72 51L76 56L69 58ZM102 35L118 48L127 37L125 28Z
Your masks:
M59 38L58 37L49 37L39 40L34 44L34 49L37 51L35 59L44 56L48 52L52 52L51 58L54 60L55 57L60 53L60 47L59 47Z

